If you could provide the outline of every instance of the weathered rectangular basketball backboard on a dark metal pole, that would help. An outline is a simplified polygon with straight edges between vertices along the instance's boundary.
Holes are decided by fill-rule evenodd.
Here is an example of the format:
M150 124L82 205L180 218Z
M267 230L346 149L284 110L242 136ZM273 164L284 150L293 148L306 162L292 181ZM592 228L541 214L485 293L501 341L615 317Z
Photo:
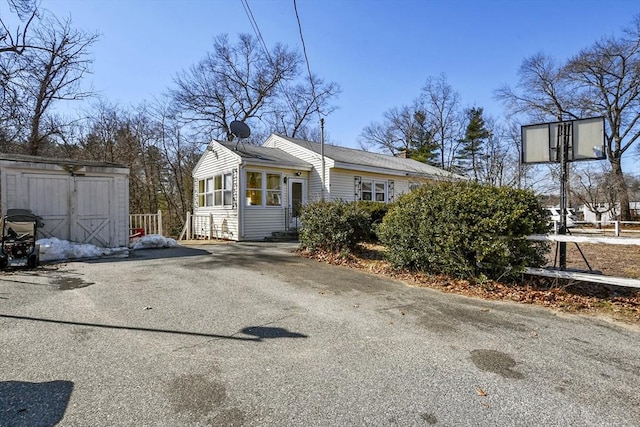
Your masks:
M562 144L562 134L559 135L561 127L568 129L567 161L606 159L604 117L592 117L522 126L522 163L560 162L558 148Z

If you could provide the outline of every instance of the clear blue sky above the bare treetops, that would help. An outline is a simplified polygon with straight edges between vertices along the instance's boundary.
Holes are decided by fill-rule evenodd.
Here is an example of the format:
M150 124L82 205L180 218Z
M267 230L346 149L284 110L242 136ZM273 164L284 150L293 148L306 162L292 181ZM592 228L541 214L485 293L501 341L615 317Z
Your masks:
M293 0L248 0L268 46L302 50ZM314 73L342 87L328 139L356 147L362 129L408 104L444 73L466 106L502 116L493 99L522 60L565 59L619 34L637 0L298 0ZM99 32L93 86L122 105L151 100L211 50L213 37L253 33L240 0L42 0L76 27Z

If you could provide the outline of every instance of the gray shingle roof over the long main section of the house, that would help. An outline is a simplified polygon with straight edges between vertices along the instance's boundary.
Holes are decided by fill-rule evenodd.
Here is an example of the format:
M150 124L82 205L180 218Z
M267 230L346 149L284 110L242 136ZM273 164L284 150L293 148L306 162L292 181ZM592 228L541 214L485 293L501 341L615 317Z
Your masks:
M320 154L321 144L318 142L305 141L302 139L289 138L278 135L289 142L304 147L315 153ZM419 175L433 178L453 178L465 179L460 175L447 172L444 169L418 162L413 159L389 156L380 153L372 153L369 151L356 150L353 148L339 147L337 145L325 144L324 155L335 162L346 163L357 166L383 168L393 171L406 172L409 175Z

